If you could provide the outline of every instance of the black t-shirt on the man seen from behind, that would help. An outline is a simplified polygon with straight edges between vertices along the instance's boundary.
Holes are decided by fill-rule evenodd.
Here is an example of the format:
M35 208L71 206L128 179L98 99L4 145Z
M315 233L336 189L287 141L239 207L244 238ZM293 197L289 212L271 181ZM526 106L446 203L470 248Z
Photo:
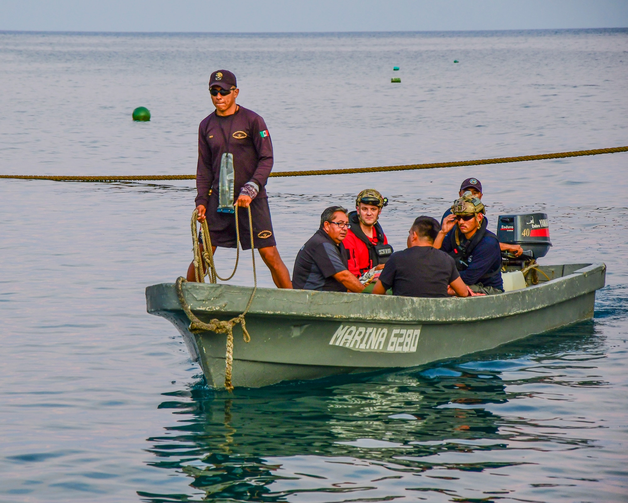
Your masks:
M431 246L413 246L394 252L379 280L393 295L448 297L447 285L460 277L453 258Z

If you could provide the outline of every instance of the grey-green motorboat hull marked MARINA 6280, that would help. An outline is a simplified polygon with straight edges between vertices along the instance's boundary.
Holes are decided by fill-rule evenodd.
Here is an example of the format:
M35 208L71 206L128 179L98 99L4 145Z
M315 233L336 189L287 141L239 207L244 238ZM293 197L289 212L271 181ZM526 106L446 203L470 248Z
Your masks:
M263 387L386 368L414 367L489 350L593 318L604 263L537 265L526 287L493 296L418 298L258 288L246 314L251 340L233 328L232 384ZM536 282L537 284L532 284ZM252 287L188 283L181 292L201 321L242 314ZM173 323L207 382L225 387L224 333L190 330L175 284L146 289L150 314Z

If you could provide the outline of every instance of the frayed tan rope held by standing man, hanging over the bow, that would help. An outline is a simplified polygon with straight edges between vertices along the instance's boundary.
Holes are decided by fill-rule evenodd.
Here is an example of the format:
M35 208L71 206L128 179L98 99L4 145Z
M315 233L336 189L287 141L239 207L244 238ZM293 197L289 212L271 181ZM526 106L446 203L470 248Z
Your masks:
M204 278L205 278L206 273L203 272L202 257L205 258L205 263L207 263L207 274L210 277L210 282L215 283L216 278L222 281L227 281L231 279L232 277L234 277L234 274L236 274L238 259L240 256L239 248L241 246L240 245L240 229L239 229L238 218L237 218L237 208L238 207L236 206L236 236L237 236L236 267L234 267L234 272L232 272L232 274L227 279L222 279L218 274L216 274L216 269L214 265L214 253L212 253L212 241L209 236L209 229L207 227L207 219L203 220L203 222L201 223L203 243L205 244L205 246L203 246L203 254L201 256L200 246L198 246L198 236L196 232L197 231L196 221L197 221L198 213L196 210L194 210L194 213L192 213L192 242L193 242L193 247L194 247L194 274L195 274L197 282L200 282L200 283L205 282ZM212 319L209 323L200 321L200 319L198 319L197 316L195 316L195 314L192 312L192 309L188 305L187 301L185 300L185 296L183 295L182 285L184 282L187 282L187 280L184 277L180 276L176 279L176 283L175 283L176 296L179 299L181 308L183 309L186 316L190 320L190 331L192 332L212 331L217 334L227 334L227 351L225 354L225 388L229 392L232 392L234 389L233 384L231 383L231 371L233 368L233 361L234 361L233 328L237 324L240 324L242 326L242 338L244 339L244 342L247 343L251 341L251 336L249 335L249 332L246 329L246 321L244 320L244 316L246 315L247 312L249 312L249 309L251 308L251 303L253 302L253 297L255 296L255 292L257 291L257 273L255 270L255 248L253 247L253 219L251 216L251 206L249 206L248 209L249 209L249 230L251 232L251 236L250 236L251 257L253 260L253 279L255 282L255 286L253 288L253 291L251 292L251 297L249 297L249 302L247 302L244 312L242 312L242 314L240 314L239 316L236 316L236 318L230 319L229 321L221 321L215 318ZM197 267L197 263L198 263L198 267Z

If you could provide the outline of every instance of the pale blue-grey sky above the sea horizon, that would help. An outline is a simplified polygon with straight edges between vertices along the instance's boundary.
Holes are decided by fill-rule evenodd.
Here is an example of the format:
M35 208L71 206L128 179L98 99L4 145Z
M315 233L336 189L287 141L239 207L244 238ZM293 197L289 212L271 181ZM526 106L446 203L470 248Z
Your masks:
M628 0L0 0L8 31L624 28Z

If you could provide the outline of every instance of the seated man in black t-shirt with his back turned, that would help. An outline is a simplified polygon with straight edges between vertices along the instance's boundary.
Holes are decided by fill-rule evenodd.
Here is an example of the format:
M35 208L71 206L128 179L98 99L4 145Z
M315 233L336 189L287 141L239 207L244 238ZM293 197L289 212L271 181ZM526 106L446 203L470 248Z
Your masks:
M458 297L467 297L467 285L460 279L452 257L434 248L440 225L431 216L420 216L410 228L408 248L395 252L379 275L373 293L404 297L448 297L451 288Z

